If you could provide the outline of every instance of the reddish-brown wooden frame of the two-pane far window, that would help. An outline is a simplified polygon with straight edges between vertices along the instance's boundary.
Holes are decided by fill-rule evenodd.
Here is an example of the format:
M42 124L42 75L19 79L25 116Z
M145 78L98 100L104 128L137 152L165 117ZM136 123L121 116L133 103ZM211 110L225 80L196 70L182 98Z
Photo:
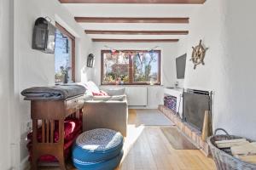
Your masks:
M125 50L117 50L117 51L121 51L121 52L132 52L132 53L147 53L148 50L134 50L134 49L131 49L131 50L128 50L128 49L125 49ZM101 51L101 85L115 85L115 82L103 82L104 80L104 73L103 73L103 70L104 70L104 54L105 53L109 53L110 50L106 50L106 49L102 49ZM160 49L157 49L157 50L154 50L154 53L157 53L158 56L159 56L159 59L158 59L158 80L157 82L154 82L154 85L161 85L161 50ZM125 82L124 85L149 85L149 82L133 82L133 77L134 77L134 70L133 70L133 62L132 62L132 59L131 59L131 56L129 56L129 82Z

